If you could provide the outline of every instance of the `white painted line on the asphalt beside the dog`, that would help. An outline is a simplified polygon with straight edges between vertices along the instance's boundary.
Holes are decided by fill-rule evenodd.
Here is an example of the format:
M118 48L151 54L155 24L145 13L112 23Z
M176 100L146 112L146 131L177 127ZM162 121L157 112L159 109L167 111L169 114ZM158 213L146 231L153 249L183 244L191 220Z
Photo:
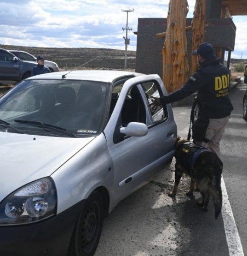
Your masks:
M236 223L232 214L223 176L221 178L221 189L222 189L222 197L223 197L221 213L224 221L224 229L225 229L225 235L226 235L226 240L227 240L228 249L229 249L229 255L244 256L241 240L240 240Z

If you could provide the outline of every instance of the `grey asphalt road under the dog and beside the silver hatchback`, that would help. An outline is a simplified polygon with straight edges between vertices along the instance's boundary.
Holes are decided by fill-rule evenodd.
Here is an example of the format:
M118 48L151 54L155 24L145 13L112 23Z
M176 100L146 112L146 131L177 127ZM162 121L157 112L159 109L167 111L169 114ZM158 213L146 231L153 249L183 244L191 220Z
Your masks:
M105 218L95 256L247 256L245 89L241 83L230 91L234 111L221 142L225 209L218 220L212 200L205 213L195 203L199 192L185 195L190 185L186 177L176 198L167 196L174 183L173 161L167 172L128 196ZM173 113L178 135L187 137L190 107L174 107Z

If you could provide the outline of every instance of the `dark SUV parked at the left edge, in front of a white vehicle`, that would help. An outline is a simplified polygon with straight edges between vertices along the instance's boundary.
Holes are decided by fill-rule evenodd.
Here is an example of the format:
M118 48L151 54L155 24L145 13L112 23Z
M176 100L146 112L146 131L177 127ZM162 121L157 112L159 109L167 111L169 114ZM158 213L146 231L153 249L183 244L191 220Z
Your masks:
M23 61L14 54L0 48L0 83L3 81L19 82L31 76L33 67L37 65L34 61Z

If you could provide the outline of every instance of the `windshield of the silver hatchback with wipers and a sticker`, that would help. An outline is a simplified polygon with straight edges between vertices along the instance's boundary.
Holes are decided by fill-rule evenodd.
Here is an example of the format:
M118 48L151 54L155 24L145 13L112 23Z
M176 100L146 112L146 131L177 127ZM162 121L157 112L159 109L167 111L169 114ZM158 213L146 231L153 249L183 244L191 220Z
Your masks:
M108 83L26 80L0 98L3 121L0 131L59 137L95 136L103 129L108 97Z

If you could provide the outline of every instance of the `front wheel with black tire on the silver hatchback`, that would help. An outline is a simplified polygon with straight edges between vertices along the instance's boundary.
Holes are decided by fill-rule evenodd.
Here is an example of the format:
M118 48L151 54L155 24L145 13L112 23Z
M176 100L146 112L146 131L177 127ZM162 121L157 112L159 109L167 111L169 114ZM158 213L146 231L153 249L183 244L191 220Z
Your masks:
M103 199L93 191L76 222L68 256L93 256L103 227Z

